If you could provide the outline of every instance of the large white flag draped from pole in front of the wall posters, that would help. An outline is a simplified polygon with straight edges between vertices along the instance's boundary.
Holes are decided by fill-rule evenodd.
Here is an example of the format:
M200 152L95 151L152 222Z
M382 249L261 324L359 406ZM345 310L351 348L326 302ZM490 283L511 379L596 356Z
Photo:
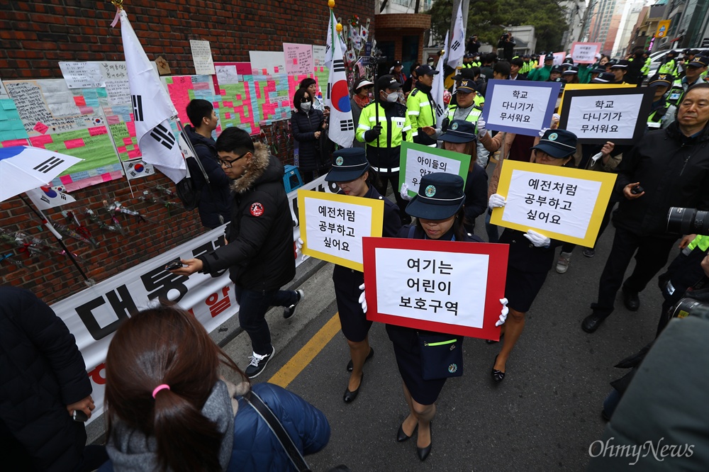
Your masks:
M170 118L177 115L172 101L152 69L143 46L138 41L128 15L121 10L121 36L128 70L130 99L138 147L143 161L152 164L175 183L184 179L186 166L170 128Z

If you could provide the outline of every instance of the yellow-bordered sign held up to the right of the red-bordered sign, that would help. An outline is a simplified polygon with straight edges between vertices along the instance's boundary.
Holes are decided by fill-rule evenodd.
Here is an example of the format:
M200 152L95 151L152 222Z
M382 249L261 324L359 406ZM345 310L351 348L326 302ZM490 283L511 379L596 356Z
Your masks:
M593 247L616 174L503 162L498 193L507 204L493 210L490 223Z

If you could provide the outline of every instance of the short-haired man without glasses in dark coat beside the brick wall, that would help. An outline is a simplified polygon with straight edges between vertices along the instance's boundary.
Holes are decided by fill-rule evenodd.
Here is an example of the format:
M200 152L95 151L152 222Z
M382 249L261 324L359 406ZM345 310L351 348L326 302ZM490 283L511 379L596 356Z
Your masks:
M212 131L216 130L218 118L212 104L206 100L194 99L187 105L187 116L192 126L186 125L184 133L192 143L204 172L209 177L209 185L204 180L201 169L192 159L188 159L189 174L194 179L199 195L199 218L202 225L214 228L229 223L231 219L231 180L224 173L217 159L216 144Z

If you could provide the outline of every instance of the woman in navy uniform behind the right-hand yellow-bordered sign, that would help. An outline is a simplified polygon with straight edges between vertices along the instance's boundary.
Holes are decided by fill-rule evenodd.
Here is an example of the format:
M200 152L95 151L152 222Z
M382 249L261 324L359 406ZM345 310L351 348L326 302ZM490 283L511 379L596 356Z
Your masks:
M532 150L532 162L564 166L576 152L576 135L566 130L546 130L539 144L532 147ZM490 208L503 207L506 203L499 193L490 196ZM491 372L496 382L505 378L507 359L525 327L525 313L532 306L554 264L554 249L562 245L562 242L552 241L533 230L525 233L510 228L502 233L499 242L510 245L505 286L510 320L503 327L505 337L502 349L495 357Z

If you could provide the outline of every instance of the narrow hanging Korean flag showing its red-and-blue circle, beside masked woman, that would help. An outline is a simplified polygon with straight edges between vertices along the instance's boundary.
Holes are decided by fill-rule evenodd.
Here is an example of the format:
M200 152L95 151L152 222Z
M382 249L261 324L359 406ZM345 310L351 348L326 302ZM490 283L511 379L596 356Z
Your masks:
M330 140L341 147L352 147L354 120L350 106L350 87L347 86L339 41L335 41L333 45L333 67L330 67L327 98L326 103L330 106Z

